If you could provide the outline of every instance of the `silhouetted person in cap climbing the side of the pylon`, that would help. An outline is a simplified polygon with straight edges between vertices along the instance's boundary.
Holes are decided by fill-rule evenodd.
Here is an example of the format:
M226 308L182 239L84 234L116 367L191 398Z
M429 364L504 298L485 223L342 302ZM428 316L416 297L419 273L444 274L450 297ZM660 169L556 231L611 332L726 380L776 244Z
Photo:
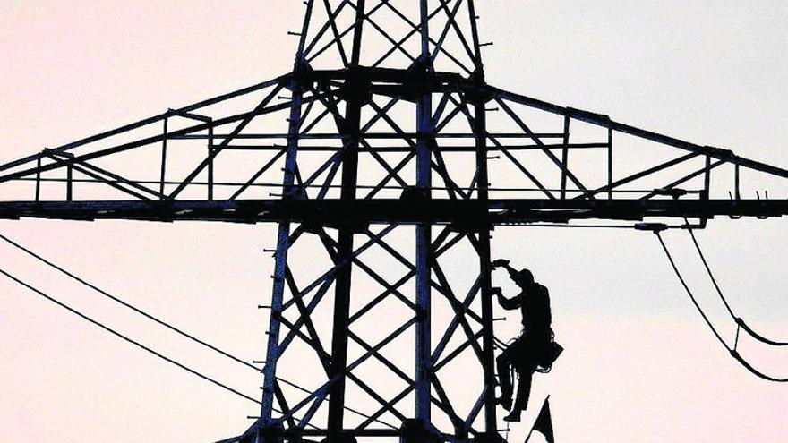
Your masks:
M492 268L505 268L509 276L522 290L512 298L503 296L500 287L492 288L498 295L498 302L505 310L522 311L523 332L496 359L498 379L501 382L501 397L498 403L510 414L503 420L519 422L520 412L528 405L531 394L531 379L537 368L549 369L561 353L561 346L552 343L552 313L550 294L547 288L534 281L528 269L517 270L509 265L509 260L495 260ZM518 394L514 407L511 407L512 369L518 373Z

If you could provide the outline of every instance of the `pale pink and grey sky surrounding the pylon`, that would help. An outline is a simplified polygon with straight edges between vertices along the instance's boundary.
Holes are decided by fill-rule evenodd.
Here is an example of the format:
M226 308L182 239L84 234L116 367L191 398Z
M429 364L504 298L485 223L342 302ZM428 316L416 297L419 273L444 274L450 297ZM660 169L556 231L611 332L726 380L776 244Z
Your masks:
M0 161L287 72L295 39L286 32L300 26L300 4L0 0ZM493 85L788 166L785 2L477 4L483 39L495 43L484 51ZM770 195L786 198L788 186ZM785 222L719 219L698 234L734 310L784 341ZM271 263L261 248L274 243L271 226L22 220L0 222L0 232L228 351L264 355L253 307L270 294ZM668 240L699 283L689 238ZM730 359L650 234L500 229L492 246L551 289L567 351L549 376L535 378L535 396L552 394L559 441L788 439L788 387ZM259 392L254 374L5 245L0 267ZM715 298L704 294L712 309ZM715 320L729 337L732 325ZM784 352L745 345L758 367L788 374ZM3 441L213 441L244 430L246 415L258 413L4 279L0 397Z

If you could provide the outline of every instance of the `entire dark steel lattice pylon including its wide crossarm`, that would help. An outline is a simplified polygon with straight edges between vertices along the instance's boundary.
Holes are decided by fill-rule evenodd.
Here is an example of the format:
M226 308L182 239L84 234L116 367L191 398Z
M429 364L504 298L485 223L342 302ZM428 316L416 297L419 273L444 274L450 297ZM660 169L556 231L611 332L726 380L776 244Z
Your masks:
M473 0L304 5L293 72L0 166L4 218L278 223L261 416L227 441L499 441L494 226L788 213L740 191L785 169L486 84Z

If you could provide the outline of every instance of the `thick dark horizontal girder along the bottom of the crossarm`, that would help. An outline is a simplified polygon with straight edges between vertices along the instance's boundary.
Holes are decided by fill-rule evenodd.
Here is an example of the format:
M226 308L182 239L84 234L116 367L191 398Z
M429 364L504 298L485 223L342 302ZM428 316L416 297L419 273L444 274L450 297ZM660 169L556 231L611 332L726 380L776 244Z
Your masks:
M782 217L788 200L559 200L506 199L431 200L177 200L172 202L8 201L0 202L0 218L66 220L220 221L263 223L288 220L320 226L433 223L475 230L539 222L571 220L643 220L647 217L713 218Z

